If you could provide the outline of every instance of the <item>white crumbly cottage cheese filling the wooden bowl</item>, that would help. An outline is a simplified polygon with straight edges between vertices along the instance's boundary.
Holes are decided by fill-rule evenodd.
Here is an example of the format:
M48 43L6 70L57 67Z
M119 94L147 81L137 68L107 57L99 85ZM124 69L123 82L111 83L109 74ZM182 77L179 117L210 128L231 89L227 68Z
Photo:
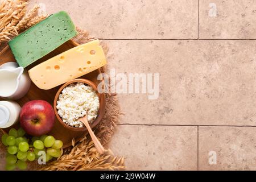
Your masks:
M79 118L88 115L88 122L92 122L100 107L99 98L91 86L82 82L65 87L57 101L58 114L63 122L72 127L84 127Z

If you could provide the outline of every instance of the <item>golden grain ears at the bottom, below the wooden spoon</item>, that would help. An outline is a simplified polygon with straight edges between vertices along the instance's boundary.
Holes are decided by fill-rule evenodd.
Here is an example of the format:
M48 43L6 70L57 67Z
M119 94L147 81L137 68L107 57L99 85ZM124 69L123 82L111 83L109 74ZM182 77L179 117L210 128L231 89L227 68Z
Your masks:
M81 139L79 144L67 150L58 160L49 163L46 167L40 168L40 170L82 171L89 169L118 170L126 168L123 157L114 156L110 150L108 153L100 155L93 142L85 137Z

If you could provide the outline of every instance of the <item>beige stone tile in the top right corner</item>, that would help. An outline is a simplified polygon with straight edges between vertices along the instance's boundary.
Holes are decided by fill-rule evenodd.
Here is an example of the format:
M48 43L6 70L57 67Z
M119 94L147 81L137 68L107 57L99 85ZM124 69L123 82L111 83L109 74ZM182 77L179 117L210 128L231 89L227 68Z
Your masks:
M210 17L210 3L217 16ZM200 39L256 39L256 3L253 0L199 0Z

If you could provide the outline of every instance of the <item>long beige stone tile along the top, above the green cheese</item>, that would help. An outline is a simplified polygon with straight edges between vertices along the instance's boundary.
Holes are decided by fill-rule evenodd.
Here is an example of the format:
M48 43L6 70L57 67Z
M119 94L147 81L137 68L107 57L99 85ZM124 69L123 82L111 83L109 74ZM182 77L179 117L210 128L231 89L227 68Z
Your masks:
M47 13L67 11L76 26L105 39L197 39L197 1L81 1L43 2ZM65 2L65 3L63 3Z

